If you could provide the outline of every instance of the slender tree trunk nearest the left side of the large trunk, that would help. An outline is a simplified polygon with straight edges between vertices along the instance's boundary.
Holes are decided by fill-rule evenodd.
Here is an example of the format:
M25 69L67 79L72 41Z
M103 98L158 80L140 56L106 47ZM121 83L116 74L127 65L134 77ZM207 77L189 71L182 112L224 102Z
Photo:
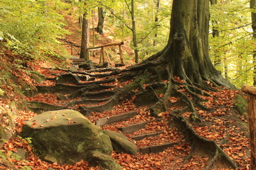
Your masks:
M137 33L136 33L136 22L135 22L135 13L134 13L134 0L132 0L132 9L131 9L131 15L132 15L132 42L134 46L134 54L135 54L135 62L139 62L139 52L138 52L138 46L137 46Z

